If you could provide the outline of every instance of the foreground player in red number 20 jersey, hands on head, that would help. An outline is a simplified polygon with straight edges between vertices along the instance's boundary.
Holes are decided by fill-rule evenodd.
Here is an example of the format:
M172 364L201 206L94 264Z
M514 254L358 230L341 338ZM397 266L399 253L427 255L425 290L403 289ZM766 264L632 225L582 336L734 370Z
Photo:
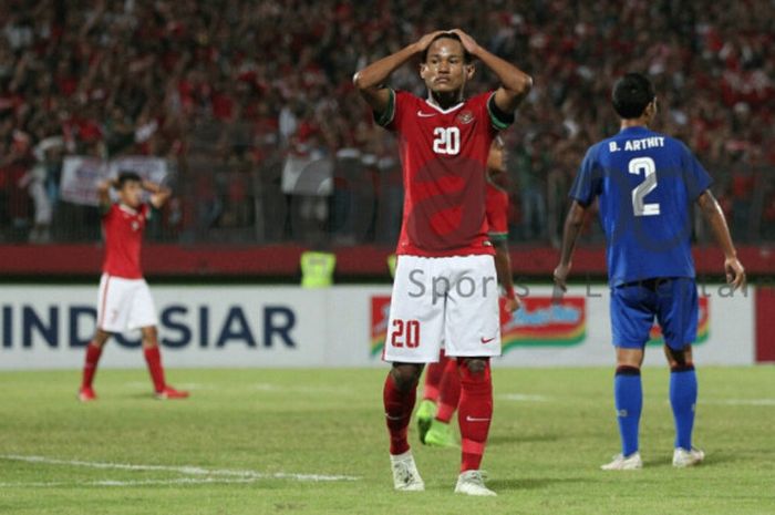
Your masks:
M426 99L384 85L414 56ZM465 97L478 59L500 81ZM458 361L462 465L455 492L495 495L479 464L493 413L489 358L500 353L493 245L485 219L489 147L514 121L531 86L529 75L455 29L423 35L353 78L376 122L394 131L405 190L397 265L383 359L392 362L383 400L390 432L393 484L420 491L406 439L424 363L438 360L441 342Z

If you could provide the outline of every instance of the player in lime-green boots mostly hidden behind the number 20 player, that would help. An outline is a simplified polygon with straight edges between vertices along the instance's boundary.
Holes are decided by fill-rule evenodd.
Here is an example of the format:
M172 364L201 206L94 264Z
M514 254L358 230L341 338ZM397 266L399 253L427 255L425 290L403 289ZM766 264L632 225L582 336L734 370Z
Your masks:
M489 240L495 247L495 268L498 284L503 288L500 321L507 321L519 309L519 299L514 292L512 259L508 254L508 194L497 183L506 173L506 150L500 136L493 141L487 159L487 193L485 212ZM435 377L434 377L435 375ZM456 446L450 421L461 396L461 380L455 360L443 353L437 363L430 363L425 372L423 401L417 409L420 441L427 445Z

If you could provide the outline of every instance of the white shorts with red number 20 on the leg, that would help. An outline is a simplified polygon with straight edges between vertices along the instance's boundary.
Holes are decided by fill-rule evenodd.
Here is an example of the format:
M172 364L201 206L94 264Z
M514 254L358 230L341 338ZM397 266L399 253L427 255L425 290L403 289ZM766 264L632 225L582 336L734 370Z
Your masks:
M384 361L433 363L446 356L500 356L493 256L399 256Z

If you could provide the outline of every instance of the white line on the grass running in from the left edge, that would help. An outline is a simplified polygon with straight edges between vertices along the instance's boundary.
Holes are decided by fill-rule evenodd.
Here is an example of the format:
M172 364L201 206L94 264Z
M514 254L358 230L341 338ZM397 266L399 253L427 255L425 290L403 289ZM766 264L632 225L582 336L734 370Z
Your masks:
M296 474L290 472L257 472L234 471L224 468L203 468L199 466L167 466L167 465L132 465L126 463L84 462L79 460L56 460L45 456L23 456L18 454L0 454L0 460L37 463L43 465L82 466L89 468L103 468L114 471L143 471L143 472L177 472L178 474L200 476L226 476L241 480L294 480L294 481L358 481L359 477L348 475L324 474Z

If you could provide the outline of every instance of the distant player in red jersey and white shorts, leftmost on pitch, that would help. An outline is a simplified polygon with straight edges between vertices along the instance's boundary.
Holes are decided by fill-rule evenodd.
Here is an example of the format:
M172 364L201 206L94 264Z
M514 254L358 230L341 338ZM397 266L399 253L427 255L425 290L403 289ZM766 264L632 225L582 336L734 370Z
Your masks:
M118 195L112 203L111 185ZM158 350L156 309L148 285L140 267L140 249L151 206L159 208L169 198L169 188L143 181L133 172L123 172L114 182L100 185L102 228L105 237L105 259L100 279L97 327L94 339L86 348L83 382L79 399L96 399L92 382L102 348L111 334L127 329L140 329L143 352L158 399L185 399L188 392L175 390L164 380L164 368ZM143 190L151 193L149 204L143 203Z

